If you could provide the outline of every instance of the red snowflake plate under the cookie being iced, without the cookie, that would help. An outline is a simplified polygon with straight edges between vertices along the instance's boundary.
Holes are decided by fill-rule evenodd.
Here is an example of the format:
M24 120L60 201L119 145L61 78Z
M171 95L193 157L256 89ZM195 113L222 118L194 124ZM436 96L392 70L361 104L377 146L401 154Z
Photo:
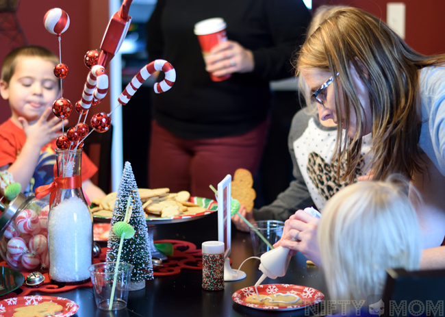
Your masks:
M315 288L308 288L307 286L292 285L292 284L264 284L258 286L258 294L260 295L272 295L276 293L291 293L303 299L301 305L289 305L289 306L267 306L246 303L246 299L250 296L256 295L255 287L249 286L248 288L242 288L233 293L232 299L235 303L246 307L252 307L261 310L277 310L279 312L283 310L295 310L301 309L306 306L320 303L325 298L325 294L316 290Z

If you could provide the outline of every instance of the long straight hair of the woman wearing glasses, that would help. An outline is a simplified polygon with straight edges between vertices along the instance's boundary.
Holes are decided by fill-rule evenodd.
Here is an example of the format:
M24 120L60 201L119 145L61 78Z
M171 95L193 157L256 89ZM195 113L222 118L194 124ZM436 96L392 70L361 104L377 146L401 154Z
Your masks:
M418 153L419 138L416 96L420 68L445 62L445 55L417 53L385 23L371 14L352 7L335 10L307 38L296 62L301 68L318 68L333 74L335 107L338 118L336 152L347 158L343 179L353 182L360 163L363 110L351 75L352 64L369 91L372 111L372 162L374 179L401 173L411 179L422 170ZM343 138L349 128L350 107L340 112L340 90L344 105L351 105L357 116L354 138ZM342 123L344 118L344 123ZM344 147L340 140L344 140ZM396 160L394 160L396 157ZM339 167L340 168L340 167ZM338 170L340 177L340 170Z

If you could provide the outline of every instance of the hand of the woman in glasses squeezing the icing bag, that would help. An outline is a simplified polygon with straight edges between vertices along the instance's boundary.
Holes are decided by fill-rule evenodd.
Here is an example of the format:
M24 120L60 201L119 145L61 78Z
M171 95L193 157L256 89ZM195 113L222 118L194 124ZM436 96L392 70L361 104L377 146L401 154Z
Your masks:
M298 210L284 223L283 236L276 246L291 250L291 255L301 252L307 259L321 266L320 250L318 249L317 229L320 219L309 215L304 210ZM292 241L296 239L296 241Z

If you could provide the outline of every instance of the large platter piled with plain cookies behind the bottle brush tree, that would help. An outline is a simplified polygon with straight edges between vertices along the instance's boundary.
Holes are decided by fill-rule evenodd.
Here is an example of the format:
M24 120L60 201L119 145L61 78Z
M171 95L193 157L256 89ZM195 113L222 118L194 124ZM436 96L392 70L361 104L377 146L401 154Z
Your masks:
M142 210L145 218L151 222L185 221L202 217L218 210L218 203L213 199L190 196L186 190L170 192L168 188L139 188ZM94 219L110 220L116 202L117 193L107 194L103 199L93 199L91 212Z

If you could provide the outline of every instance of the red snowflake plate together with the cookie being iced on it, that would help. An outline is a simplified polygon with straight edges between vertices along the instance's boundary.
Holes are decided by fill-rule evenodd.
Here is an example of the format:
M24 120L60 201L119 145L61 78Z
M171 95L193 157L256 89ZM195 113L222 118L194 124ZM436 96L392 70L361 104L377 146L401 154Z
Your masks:
M235 303L261 310L295 310L320 303L325 294L315 288L292 284L264 284L242 288L233 293ZM259 297L259 299L258 299Z

